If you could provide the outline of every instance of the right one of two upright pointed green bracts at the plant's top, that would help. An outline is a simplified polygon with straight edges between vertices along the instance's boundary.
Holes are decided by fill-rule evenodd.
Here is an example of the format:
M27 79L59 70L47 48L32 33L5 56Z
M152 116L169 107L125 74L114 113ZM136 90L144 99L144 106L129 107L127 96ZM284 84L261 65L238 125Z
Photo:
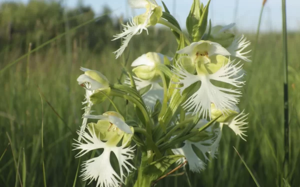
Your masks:
M198 24L193 27L193 31L192 31L192 40L193 41L201 40L203 34L205 33L206 26L207 26L209 3L210 3L210 0L207 2L206 6L204 7Z

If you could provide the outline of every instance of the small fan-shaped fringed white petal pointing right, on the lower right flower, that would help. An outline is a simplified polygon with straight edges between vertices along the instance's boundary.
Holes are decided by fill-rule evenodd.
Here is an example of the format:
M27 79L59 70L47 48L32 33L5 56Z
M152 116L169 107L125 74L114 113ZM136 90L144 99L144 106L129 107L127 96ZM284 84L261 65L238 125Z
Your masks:
M244 133L246 132L245 129L248 128L246 126L248 122L245 122L245 120L248 119L248 114L244 114L243 112L244 111L236 115L230 122L225 124L228 125L228 127L230 127L234 131L235 135L240 136L241 139L246 141L242 136L247 136Z

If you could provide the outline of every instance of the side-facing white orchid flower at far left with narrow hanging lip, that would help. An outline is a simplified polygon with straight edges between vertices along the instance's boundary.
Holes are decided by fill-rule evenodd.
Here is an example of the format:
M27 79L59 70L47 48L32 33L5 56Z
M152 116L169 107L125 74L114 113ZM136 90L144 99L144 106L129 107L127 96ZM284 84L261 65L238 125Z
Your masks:
M107 78L98 71L90 70L90 69L83 68L83 67L81 67L80 70L84 71L84 74L80 75L77 78L77 81L78 81L78 84L81 85L82 87L84 87L84 89L85 89L85 98L84 98L84 101L82 102L82 105L85 105L85 106L83 107L84 113L82 116L86 116L91 113L91 107L93 105L89 99L89 96L91 96L94 93L94 90L96 90L96 89L108 88L109 83L108 83ZM78 141L81 140L82 133L86 127L86 123L87 123L87 119L83 118L82 125L80 127Z

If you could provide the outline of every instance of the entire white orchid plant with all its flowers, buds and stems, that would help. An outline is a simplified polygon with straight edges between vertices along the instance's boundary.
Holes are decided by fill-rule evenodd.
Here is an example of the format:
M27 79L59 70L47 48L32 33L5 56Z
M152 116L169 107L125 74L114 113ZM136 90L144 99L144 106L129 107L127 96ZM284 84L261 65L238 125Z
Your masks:
M246 137L247 114L237 105L250 42L230 30L234 23L211 27L209 1L204 6L193 0L186 34L163 2L163 8L155 0L128 3L145 8L145 13L131 18L113 36L122 39L116 58L134 35L150 34L147 28L158 23L171 29L178 47L173 56L141 54L131 63L132 71L125 69L122 84L81 68L84 73L77 81L85 89L84 113L73 147L79 150L76 157L93 153L82 163L81 177L96 187L151 187L178 166L200 173L216 157L224 125L241 139ZM115 97L128 101L136 118L125 116ZM115 111L92 111L108 101ZM89 119L97 122L87 123ZM112 155L118 167L113 167Z

